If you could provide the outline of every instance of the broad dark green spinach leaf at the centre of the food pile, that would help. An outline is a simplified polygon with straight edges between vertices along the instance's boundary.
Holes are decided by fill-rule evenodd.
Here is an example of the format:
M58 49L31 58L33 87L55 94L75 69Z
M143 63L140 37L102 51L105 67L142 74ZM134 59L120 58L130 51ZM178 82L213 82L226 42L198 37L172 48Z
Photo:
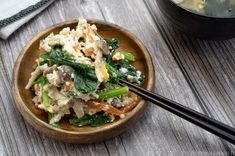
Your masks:
M86 73L74 72L74 86L83 94L87 94L96 90L97 80L91 79Z

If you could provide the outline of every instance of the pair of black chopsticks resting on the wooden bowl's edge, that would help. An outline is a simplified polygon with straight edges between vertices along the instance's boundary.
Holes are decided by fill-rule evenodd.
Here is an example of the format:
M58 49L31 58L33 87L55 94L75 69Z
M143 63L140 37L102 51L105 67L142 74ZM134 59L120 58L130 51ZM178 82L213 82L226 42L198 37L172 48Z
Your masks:
M235 144L235 128L127 81L120 80L119 84L121 86L128 86L130 91L142 96L153 104Z

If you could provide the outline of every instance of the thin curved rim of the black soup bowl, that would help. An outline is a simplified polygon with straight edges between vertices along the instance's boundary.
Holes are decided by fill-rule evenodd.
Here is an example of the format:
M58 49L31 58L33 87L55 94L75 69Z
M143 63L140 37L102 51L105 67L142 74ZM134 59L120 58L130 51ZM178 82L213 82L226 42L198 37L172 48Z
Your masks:
M200 14L200 13L197 13L197 12L193 12L190 9L187 9L185 7L182 7L179 4L173 2L173 0L168 0L168 1L171 3L171 5L175 5L176 7L181 8L181 9L187 11L188 13L196 15L196 16L199 16L199 17L204 17L204 18L208 18L208 19L216 19L216 20L235 20L235 16L231 16L231 17L219 17L219 16L203 15L203 14Z

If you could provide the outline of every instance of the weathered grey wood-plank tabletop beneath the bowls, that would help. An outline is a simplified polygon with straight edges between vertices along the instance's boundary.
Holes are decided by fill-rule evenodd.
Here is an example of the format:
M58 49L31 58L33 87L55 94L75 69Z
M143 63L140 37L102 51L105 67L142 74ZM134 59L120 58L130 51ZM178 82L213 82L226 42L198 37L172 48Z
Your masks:
M0 40L0 155L235 155L235 146L154 105L127 132L95 144L67 144L47 138L17 111L12 70L22 47L39 31L61 21L102 19L127 28L150 51L155 92L235 124L235 38L193 39L166 24L156 0L58 0Z

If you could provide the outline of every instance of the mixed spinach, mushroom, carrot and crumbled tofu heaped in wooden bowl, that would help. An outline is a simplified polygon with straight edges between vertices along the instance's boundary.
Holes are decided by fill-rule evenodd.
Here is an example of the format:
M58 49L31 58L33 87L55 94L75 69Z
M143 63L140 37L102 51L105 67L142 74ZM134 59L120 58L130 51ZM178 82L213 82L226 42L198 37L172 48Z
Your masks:
M138 97L118 82L140 84L144 75L130 64L133 54L118 47L117 39L103 39L84 18L75 29L67 27L41 40L43 54L25 88L48 113L49 124L59 127L67 115L74 126L98 126L125 118L136 107Z

